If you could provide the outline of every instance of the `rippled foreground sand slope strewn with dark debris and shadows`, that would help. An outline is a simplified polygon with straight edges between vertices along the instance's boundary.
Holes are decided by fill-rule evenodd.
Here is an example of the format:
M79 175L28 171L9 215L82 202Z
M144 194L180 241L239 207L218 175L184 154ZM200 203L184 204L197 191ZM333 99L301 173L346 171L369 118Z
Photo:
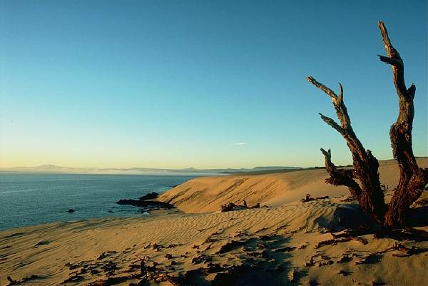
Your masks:
M77 282L66 285L86 285L106 279L102 266L109 261L118 267L112 277L136 274L138 266L131 270L131 265L138 265L138 257L144 256L170 275L183 276L207 267L207 262L192 263L200 255L222 266L253 265L239 276L240 282L246 282L236 285L372 285L373 281L426 285L426 253L409 257L394 257L402 253L399 251L377 253L391 247L392 239L374 240L373 235L365 235L367 245L352 240L315 248L318 242L332 238L328 229L338 230L343 222L355 223L350 222L351 216L364 219L353 205L322 200L228 213L89 220L8 230L0 233L0 285L6 284L6 275L14 279L39 275L29 285L58 285L73 273L78 275ZM218 254L220 247L232 241L242 243ZM147 247L150 242L160 245L158 250ZM428 242L402 243L428 249ZM101 255L103 252L106 254ZM172 258L165 258L166 254ZM346 262L337 262L344 255L349 255ZM357 264L365 257L367 261ZM175 265L170 266L171 260ZM78 266L70 270L72 265ZM91 267L99 273L82 270ZM343 274L339 274L341 270ZM215 277L215 273L193 275L196 277L188 282L198 281L198 285L209 285ZM118 285L130 282L138 280L130 278Z

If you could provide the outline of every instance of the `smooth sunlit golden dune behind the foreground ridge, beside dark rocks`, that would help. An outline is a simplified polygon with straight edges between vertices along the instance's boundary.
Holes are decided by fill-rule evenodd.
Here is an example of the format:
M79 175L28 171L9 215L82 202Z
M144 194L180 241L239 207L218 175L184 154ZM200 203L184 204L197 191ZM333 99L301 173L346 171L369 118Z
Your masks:
M428 158L419 158L420 167L428 167ZM381 183L392 190L398 183L399 170L395 160L379 162ZM302 170L267 175L230 175L189 180L163 193L160 200L173 203L185 213L205 213L220 210L225 203L277 206L300 200L305 194L312 197L346 195L345 187L324 183L325 170Z

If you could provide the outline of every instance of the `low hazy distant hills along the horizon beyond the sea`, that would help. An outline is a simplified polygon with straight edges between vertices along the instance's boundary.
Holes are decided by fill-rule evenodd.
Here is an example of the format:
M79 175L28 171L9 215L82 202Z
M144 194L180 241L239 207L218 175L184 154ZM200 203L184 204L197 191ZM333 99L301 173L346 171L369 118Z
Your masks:
M158 168L71 168L57 165L40 165L36 167L0 168L0 172L29 173L88 173L88 174L141 174L141 175L177 175L177 174L230 174L265 170L298 170L300 167L255 167L251 169L158 169Z

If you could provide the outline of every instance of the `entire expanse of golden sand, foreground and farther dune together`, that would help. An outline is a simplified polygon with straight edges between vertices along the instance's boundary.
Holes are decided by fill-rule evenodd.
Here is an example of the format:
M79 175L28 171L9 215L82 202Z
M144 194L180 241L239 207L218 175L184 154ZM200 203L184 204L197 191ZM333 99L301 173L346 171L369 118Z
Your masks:
M394 161L382 161L380 174L392 190ZM305 170L197 178L161 195L186 213L4 230L0 285L7 276L29 278L22 285L130 285L141 280L142 260L145 270L167 275L140 285L428 285L428 241L344 233L374 224L355 203L341 202L347 190L326 177ZM330 198L300 202L306 193ZM218 212L244 199L269 207ZM339 237L323 245L332 232Z

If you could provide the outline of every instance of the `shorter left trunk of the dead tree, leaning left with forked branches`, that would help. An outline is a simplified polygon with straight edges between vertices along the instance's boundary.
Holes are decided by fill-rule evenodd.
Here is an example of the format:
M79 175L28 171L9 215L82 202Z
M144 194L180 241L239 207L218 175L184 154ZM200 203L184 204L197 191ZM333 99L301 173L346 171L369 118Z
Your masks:
M326 182L332 185L347 186L361 208L372 215L379 223L383 223L387 205L384 203L384 194L379 182L379 173L377 171L379 163L370 150L365 150L352 129L350 117L343 102L342 85L339 83L340 92L339 96L337 96L334 91L317 82L312 76L307 77L307 80L332 98L340 125L332 118L323 116L321 113L320 116L325 123L335 128L345 138L354 161L354 170L338 170L331 162L330 150L326 152L321 149L325 155L325 168L330 173L330 178ZM355 178L360 180L361 186L354 180Z

